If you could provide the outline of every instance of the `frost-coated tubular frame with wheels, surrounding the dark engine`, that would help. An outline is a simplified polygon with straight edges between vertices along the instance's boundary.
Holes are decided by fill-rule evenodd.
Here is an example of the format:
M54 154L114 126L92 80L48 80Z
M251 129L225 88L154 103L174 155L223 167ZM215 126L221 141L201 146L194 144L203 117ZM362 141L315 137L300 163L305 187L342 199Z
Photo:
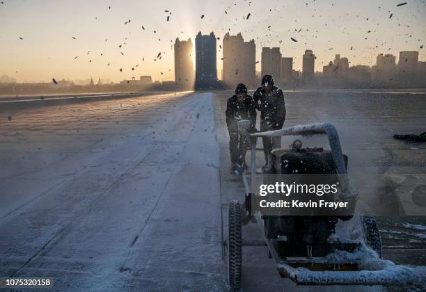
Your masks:
M250 140L251 147L251 167L250 172L243 172L242 179L246 188L246 195L244 204L240 206L237 200L231 201L229 206L229 225L228 225L228 278L231 290L238 290L241 282L241 267L242 267L242 225L249 222L262 222L260 212L251 214L251 195L254 195L251 189L251 175L255 175L257 170L256 161L256 144L257 139L260 137L277 137L277 136L313 136L325 134L329 140L333 161L336 164L337 175L340 179L341 193L339 200L357 200L358 194L349 185L347 177L347 170L345 166L342 149L340 147L340 140L338 132L333 124L318 123L306 124L289 127L286 129L279 129L275 131L264 131L257 133L249 133L250 122L242 120L237 123L239 133ZM271 156L269 155L268 167L270 168ZM253 219L253 217L255 219ZM381 241L380 234L377 228L377 222L374 216L361 216L361 224L365 233L365 245L370 243L379 245L375 251L381 257ZM265 227L263 224L258 224L262 229L262 234L265 234ZM395 273L389 273L386 268L378 268L376 270L360 270L353 262L340 263L339 268L330 268L330 264L324 258L282 258L278 256L276 240L264 238L265 243L269 250L269 257L274 259L276 268L278 269L281 277L292 279L296 284L304 285L410 285L417 279L414 277L395 277ZM361 246L348 244L343 248L349 252L356 250ZM340 248L342 245L340 244ZM383 261L382 259L378 259ZM380 265L379 265L380 266ZM396 265L394 265L397 267ZM315 267L315 268L314 268ZM386 267L386 265L382 265Z

